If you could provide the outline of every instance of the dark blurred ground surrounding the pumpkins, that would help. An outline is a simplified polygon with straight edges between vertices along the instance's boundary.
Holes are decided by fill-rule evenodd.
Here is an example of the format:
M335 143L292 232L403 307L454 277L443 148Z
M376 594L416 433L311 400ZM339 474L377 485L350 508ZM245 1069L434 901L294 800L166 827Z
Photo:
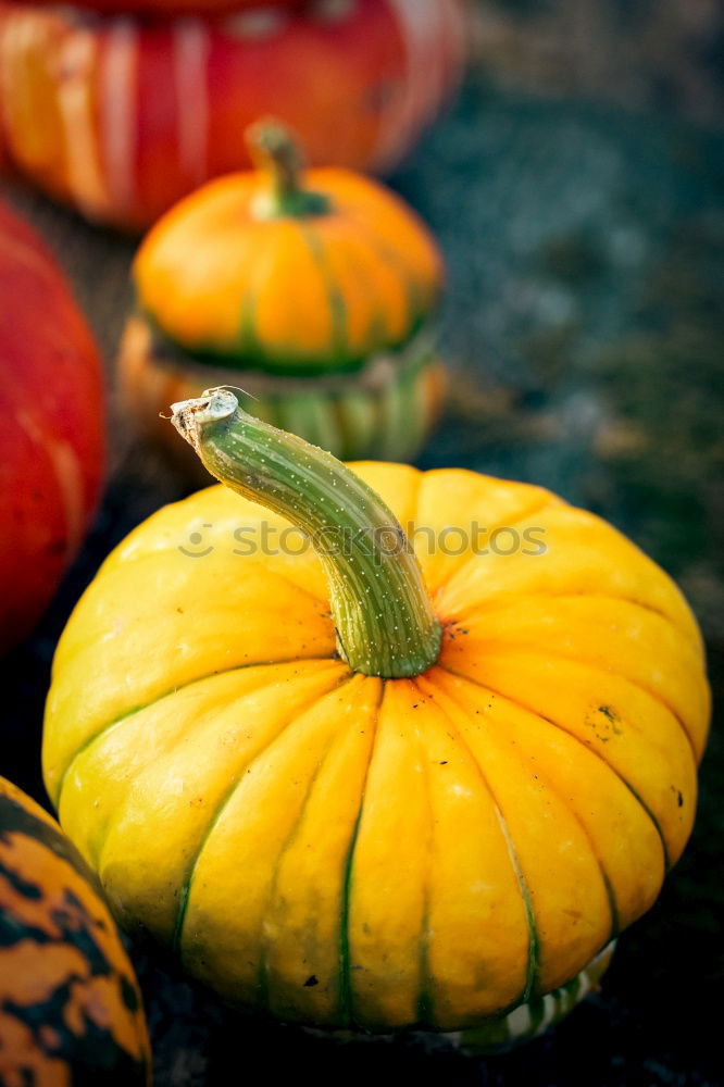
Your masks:
M450 273L442 424L422 467L544 484L595 510L677 578L724 677L724 8L719 0L480 2L477 64L391 178ZM109 375L135 243L27 190L7 193L71 275ZM95 570L185 488L112 405L93 533L36 636L0 664L2 773L45 799L50 660ZM136 949L158 1087L724 1084L721 729L692 841L592 997L554 1034L486 1061L439 1042L341 1045L245 1019Z

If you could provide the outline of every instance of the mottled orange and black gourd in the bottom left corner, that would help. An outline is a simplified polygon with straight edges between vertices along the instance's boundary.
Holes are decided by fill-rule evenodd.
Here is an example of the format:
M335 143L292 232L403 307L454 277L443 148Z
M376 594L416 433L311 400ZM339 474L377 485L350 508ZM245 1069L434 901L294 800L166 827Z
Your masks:
M150 1084L140 992L75 847L0 778L0 1085Z

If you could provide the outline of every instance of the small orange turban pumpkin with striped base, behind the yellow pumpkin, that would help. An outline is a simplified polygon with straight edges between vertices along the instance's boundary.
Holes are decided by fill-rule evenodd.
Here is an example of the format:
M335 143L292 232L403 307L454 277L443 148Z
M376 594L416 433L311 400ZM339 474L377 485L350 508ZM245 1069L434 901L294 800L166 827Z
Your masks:
M279 125L261 123L249 142L258 171L205 185L140 248L125 400L166 435L170 400L230 384L254 414L339 455L412 455L441 395L433 238L376 182L302 176Z

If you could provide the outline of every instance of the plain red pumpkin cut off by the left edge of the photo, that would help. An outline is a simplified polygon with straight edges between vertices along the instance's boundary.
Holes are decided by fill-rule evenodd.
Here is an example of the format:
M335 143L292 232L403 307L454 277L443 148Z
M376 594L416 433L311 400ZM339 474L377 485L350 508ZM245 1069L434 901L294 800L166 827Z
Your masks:
M57 264L0 203L0 649L49 603L103 462L101 371Z

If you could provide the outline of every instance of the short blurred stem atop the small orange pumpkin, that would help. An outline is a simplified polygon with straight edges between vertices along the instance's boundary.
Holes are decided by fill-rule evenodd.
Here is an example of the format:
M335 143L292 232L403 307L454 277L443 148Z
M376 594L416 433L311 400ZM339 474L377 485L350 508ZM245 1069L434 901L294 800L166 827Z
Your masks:
M328 198L303 187L302 153L288 128L278 121L258 121L247 129L247 145L264 177L253 209L259 218L326 214Z

